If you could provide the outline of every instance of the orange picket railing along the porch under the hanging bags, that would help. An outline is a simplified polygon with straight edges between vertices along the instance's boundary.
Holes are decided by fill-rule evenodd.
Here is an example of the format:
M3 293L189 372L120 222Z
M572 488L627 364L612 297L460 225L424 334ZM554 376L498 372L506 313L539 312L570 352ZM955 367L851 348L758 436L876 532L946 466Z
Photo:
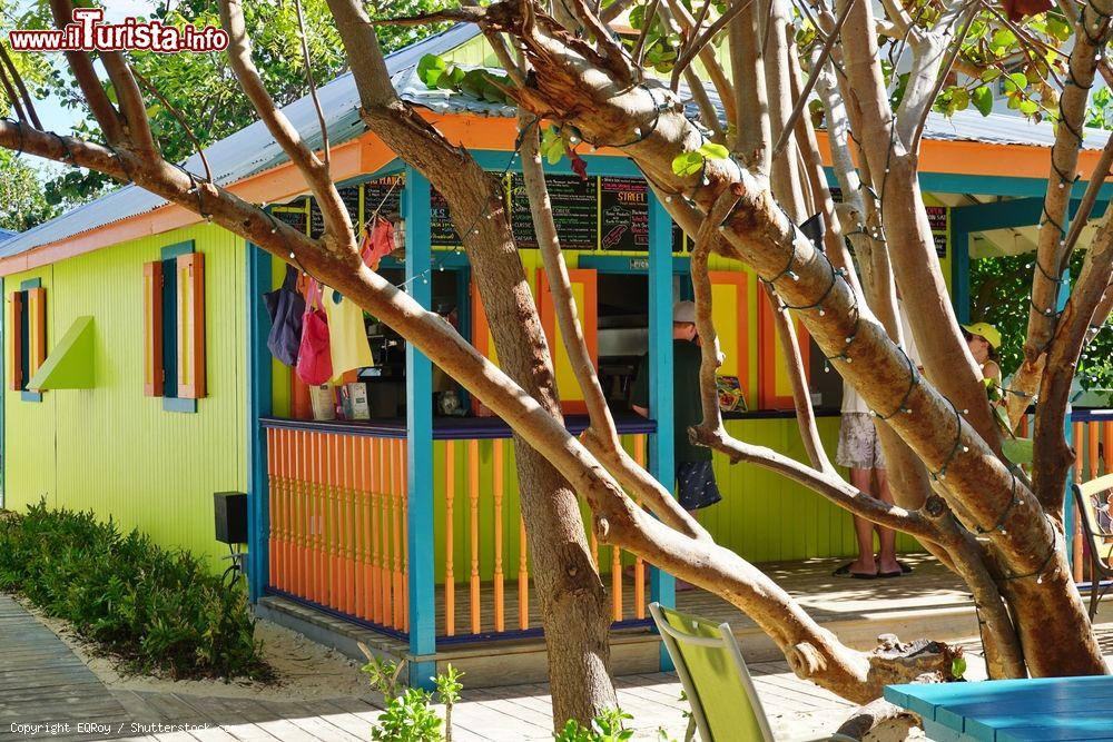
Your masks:
M265 428L272 592L403 635L410 550L432 550L440 637L540 632L511 438L433 442L434 533L410 544L404 439L293 421ZM622 441L644 464L647 435ZM593 536L590 543L612 621L646 621L644 562ZM518 590L508 590L515 565Z

